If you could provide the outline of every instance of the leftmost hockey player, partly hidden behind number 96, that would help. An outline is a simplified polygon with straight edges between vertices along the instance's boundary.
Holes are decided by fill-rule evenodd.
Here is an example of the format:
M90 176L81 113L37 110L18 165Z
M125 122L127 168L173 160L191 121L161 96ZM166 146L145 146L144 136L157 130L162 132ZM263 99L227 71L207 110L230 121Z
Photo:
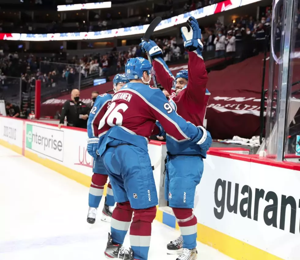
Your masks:
M120 90L126 83L127 80L125 74L117 74L113 80L114 92ZM103 160L97 155L96 149L98 146L98 126L101 118L107 111L107 108L111 104L111 94L99 95L90 112L88 118L88 153L94 158L93 163L93 176L90 191L88 193L88 217L87 221L90 224L94 224L96 221L96 214L99 203L103 195L103 188L107 182L107 171L103 166ZM107 195L105 198L104 207L102 210L101 220L110 222L111 214L113 211L115 201L113 192L111 189L111 184L107 185Z

